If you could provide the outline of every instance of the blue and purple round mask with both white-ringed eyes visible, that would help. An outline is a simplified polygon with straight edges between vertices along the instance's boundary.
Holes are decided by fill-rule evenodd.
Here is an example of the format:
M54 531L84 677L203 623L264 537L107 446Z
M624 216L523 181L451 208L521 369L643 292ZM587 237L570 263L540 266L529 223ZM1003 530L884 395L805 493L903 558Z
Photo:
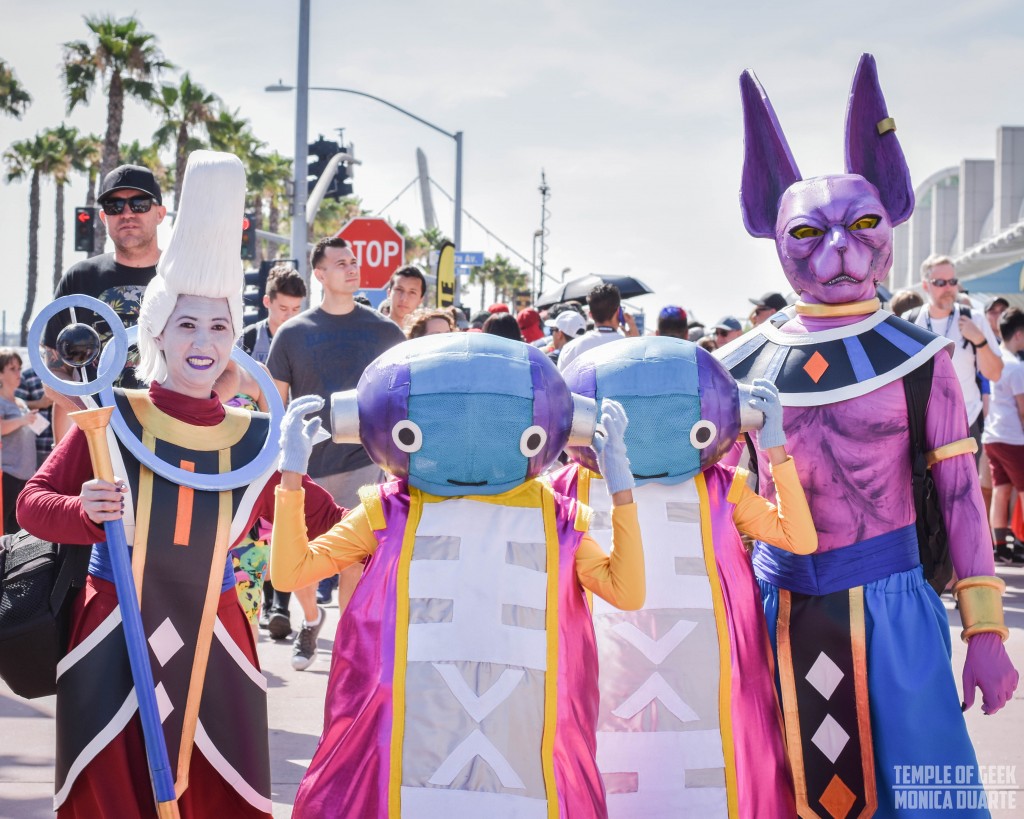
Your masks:
M572 424L572 398L536 347L478 333L403 342L356 388L374 463L433 494L498 494L540 475Z

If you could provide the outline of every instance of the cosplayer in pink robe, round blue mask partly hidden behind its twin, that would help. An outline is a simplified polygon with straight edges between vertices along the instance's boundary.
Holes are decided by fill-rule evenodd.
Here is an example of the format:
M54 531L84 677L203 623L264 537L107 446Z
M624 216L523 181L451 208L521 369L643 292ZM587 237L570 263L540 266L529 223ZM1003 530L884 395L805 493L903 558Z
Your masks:
M594 601L609 816L793 816L768 634L740 540L816 545L777 393L767 382L740 390L706 350L668 337L605 344L563 375L574 395L613 399L629 415L645 544L643 608ZM718 463L741 427L761 427L777 507L748 486L745 470ZM594 509L601 543L607 482L592 449L569 452L577 463L552 484Z

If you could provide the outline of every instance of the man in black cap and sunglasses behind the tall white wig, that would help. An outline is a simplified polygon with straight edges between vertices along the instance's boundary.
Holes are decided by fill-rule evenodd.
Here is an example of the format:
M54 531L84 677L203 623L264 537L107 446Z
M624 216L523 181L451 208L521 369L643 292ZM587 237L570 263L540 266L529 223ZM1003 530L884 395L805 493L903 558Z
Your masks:
M142 291L157 274L160 248L157 225L164 221L160 185L153 173L138 165L122 165L105 177L99 187L100 213L106 234L114 243L114 253L104 253L73 264L60 276L53 298L86 295L109 304L121 316L125 327L138 319ZM90 310L76 310L79 321L92 325L100 338L111 336L106 322ZM43 343L50 351L56 346L57 334L69 321L67 312L57 313L46 327ZM134 350L133 350L134 352ZM55 357L51 355L52 360ZM121 375L120 386L135 387L134 360ZM67 378L67 376L65 376ZM67 418L56 405L53 433L57 440L68 430Z

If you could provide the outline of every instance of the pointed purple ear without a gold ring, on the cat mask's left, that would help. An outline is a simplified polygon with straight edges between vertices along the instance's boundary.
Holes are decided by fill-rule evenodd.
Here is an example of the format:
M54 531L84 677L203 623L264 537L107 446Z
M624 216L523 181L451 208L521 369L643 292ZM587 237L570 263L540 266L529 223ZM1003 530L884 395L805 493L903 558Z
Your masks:
M739 207L746 232L759 239L775 238L775 219L782 193L800 180L785 135L771 100L754 72L739 75L743 100L743 178Z

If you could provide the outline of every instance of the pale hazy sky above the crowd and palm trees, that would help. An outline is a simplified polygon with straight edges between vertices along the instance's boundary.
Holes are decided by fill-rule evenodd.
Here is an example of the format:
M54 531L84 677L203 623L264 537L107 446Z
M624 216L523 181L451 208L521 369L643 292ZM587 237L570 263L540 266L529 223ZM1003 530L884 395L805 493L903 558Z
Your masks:
M714 321L743 317L748 297L786 288L774 247L750 238L739 216L743 69L771 96L805 177L842 170L846 98L862 51L878 59L915 180L994 156L995 129L1024 124L1020 4L941 5L312 0L309 74L311 84L357 88L462 130L465 209L527 259L544 168L549 273L632 273L656 291L638 302L647 310L682 304ZM241 110L261 139L293 152L294 98L263 88L294 82L297 2L2 0L0 10L0 56L35 97L23 120L0 120L0 148L61 121L101 132L101 96L67 115L59 45L85 37L83 13L112 12L136 14L168 58ZM452 140L372 100L312 93L310 139L337 127L364 163L355 189L365 207L383 208L415 177L417 147L452 191ZM156 128L154 114L130 105L122 141L147 140ZM8 329L25 304L28 195L28 184L0 185ZM52 196L44 184L36 310L52 274ZM76 180L69 208L84 198ZM451 206L440 195L434 205L450 230ZM385 215L420 227L416 188ZM82 258L71 241L69 231L66 266ZM466 222L463 246L505 252Z

